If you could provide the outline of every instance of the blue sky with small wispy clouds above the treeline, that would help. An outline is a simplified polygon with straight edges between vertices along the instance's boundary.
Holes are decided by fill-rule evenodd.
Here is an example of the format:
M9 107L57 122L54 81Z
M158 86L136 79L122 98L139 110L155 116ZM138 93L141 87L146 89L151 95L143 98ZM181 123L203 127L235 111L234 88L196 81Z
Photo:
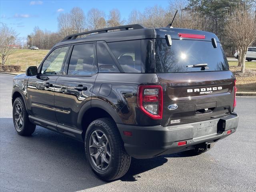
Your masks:
M127 19L134 9L143 12L148 6L165 8L169 0L0 0L0 22L16 30L20 38L31 34L35 26L42 30L58 31L57 17L77 6L86 14L98 8L106 14L117 8L122 19Z

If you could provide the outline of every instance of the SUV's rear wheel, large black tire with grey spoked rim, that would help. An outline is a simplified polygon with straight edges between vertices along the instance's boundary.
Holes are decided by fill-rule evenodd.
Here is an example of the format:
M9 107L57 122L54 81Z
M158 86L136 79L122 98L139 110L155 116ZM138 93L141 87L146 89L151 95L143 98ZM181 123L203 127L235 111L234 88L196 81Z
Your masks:
M100 118L91 122L84 141L86 158L100 179L110 181L126 174L131 156L126 153L116 123L112 119Z

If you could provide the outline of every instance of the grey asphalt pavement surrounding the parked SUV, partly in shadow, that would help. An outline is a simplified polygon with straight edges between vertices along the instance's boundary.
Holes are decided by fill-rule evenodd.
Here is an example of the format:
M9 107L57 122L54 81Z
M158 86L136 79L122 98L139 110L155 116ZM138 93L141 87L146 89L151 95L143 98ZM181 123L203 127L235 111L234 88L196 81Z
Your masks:
M184 153L136 160L126 176L104 182L86 160L84 146L36 127L19 136L12 122L12 78L0 74L0 191L255 191L256 98L238 97L238 130L199 156Z

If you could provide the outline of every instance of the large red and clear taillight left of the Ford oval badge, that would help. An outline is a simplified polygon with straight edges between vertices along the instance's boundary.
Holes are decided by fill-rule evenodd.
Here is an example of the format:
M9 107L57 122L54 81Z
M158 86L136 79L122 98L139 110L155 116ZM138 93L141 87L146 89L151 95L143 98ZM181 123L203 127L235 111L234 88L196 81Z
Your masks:
M162 119L163 88L160 85L139 86L138 107L152 119Z

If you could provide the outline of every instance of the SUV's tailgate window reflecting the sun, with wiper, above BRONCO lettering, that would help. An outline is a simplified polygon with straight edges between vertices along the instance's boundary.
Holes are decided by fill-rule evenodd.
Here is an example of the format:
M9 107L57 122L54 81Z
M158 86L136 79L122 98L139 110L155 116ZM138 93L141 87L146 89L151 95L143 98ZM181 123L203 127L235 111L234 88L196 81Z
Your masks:
M214 48L212 42L207 41L172 40L172 46L168 46L166 40L156 40L155 52L158 73L228 70L228 61L220 43ZM191 67L197 64L207 66Z

